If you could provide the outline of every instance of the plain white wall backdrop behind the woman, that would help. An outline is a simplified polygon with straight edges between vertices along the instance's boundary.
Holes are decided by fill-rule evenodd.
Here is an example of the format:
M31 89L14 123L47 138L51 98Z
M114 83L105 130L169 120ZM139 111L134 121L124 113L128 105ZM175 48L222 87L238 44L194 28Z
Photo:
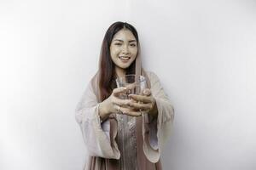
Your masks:
M253 0L1 0L0 169L83 168L74 110L118 20L175 107L164 169L256 169Z

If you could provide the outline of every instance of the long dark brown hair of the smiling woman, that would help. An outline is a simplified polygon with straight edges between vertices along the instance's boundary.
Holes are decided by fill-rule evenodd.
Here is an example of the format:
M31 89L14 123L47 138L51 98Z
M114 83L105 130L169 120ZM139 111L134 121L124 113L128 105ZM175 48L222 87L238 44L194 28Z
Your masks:
M116 88L116 73L114 70L115 65L110 56L110 44L112 42L113 36L123 28L126 28L132 32L133 36L137 40L137 54L140 53L139 39L135 27L131 26L126 22L115 22L111 26L109 26L108 31L106 32L102 42L102 50L99 63L99 89L101 101L107 99L112 94L113 88ZM135 63L136 60L134 60L131 65L126 69L126 74L135 73Z

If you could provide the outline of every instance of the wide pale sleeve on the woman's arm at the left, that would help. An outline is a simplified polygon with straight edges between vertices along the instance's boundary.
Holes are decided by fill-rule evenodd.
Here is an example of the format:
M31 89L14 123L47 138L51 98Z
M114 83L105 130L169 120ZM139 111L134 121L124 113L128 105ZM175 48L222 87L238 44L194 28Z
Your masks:
M75 118L81 128L88 154L119 159L120 152L115 141L117 127L111 129L109 118L101 123L98 106L96 95L89 83L75 110Z

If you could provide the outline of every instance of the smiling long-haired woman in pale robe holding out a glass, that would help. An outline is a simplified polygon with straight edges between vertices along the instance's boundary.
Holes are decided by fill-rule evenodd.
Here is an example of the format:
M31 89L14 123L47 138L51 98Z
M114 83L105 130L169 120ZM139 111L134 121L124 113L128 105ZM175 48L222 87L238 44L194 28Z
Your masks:
M115 79L127 74L143 75L148 88L119 99L130 89L117 88ZM160 152L173 118L158 77L142 69L136 29L113 23L102 42L99 70L76 109L88 152L84 169L162 169Z

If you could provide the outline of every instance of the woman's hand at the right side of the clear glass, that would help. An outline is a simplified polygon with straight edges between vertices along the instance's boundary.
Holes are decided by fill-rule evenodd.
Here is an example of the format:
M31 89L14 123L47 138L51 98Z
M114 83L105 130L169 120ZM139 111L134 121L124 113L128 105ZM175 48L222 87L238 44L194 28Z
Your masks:
M129 103L131 108L141 112L148 112L151 116L157 116L155 99L149 88L144 89L142 95L129 94L129 97L132 99Z

